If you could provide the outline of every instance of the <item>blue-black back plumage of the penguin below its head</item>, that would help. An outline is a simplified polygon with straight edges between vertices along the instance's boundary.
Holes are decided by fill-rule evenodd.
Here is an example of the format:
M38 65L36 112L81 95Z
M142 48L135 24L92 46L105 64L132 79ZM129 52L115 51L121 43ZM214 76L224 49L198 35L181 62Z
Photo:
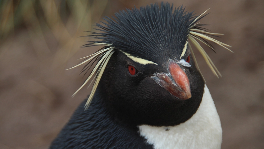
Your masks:
M138 135L136 127L114 118L99 93L87 111L86 101L81 103L50 148L152 148Z

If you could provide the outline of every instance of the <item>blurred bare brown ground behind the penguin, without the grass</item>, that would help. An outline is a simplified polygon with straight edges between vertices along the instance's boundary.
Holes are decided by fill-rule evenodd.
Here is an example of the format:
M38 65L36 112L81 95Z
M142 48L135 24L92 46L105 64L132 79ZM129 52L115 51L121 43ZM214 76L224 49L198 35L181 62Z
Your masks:
M104 15L156 1L108 2ZM234 54L216 46L217 54L207 53L218 67L217 79L200 54L199 66L215 101L223 128L222 148L264 148L264 1L170 1L184 5L197 14L211 8L201 22L232 46ZM87 33L83 33L86 35ZM84 81L80 68L65 71L77 64L77 58L95 48L81 48L73 57L60 53L59 44L50 32L46 43L22 29L0 46L0 148L48 148L74 109L89 90L71 95ZM77 38L80 44L85 38ZM49 49L49 50L47 50ZM67 62L57 62L62 55ZM64 54L64 55L63 55ZM68 55L67 55L68 54ZM68 58L71 57L71 58Z

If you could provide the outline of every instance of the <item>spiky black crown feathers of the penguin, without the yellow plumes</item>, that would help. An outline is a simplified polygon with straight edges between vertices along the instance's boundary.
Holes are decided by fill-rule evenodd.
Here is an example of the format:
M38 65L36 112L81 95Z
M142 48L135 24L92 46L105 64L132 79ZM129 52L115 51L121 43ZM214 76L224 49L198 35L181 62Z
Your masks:
M168 3L126 9L113 18L106 17L105 26L97 24L103 32L91 36L100 39L98 43L157 64L168 56L180 58L195 19L183 6L173 9Z

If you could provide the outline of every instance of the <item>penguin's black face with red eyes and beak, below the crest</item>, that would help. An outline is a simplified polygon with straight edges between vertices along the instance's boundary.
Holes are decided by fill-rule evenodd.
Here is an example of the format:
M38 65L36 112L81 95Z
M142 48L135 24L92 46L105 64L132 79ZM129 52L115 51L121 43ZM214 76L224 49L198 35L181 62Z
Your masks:
M141 64L123 52L114 52L100 80L100 90L120 119L136 125L175 126L196 112L204 82L189 52L182 59L189 61L191 67L170 57L164 59L167 60L158 64ZM175 68L186 77L172 77ZM183 89L186 82L190 98L186 93L181 95L188 90Z

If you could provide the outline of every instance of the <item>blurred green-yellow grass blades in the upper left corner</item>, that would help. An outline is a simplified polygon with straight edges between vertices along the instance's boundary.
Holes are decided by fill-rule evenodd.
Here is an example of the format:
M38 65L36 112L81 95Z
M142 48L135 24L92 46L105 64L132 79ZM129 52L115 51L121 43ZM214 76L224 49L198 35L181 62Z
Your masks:
M51 50L48 46L38 47L33 40L46 42L45 33L52 33L59 45L58 49L52 50L56 51L55 59L65 62L83 44L76 38L88 34L84 31L92 30L107 3L107 0L1 0L0 46L10 36L26 29L41 59L51 56Z

